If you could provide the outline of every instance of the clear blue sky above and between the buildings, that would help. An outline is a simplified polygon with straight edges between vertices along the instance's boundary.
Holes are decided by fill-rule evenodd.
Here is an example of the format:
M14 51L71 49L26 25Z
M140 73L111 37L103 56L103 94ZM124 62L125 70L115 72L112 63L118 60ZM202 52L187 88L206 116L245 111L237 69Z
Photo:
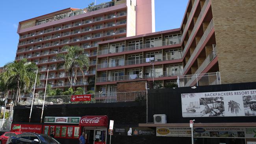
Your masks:
M96 0L96 4L110 0ZM0 67L14 61L19 42L17 28L20 21L59 11L85 8L95 0L0 0ZM188 0L155 0L156 31L180 28Z

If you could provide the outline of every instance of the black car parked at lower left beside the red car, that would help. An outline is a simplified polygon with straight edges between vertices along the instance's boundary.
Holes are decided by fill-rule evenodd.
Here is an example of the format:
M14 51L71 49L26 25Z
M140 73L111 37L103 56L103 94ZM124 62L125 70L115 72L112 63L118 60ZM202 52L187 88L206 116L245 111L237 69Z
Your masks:
M6 144L60 144L54 138L37 133L22 133L8 138Z

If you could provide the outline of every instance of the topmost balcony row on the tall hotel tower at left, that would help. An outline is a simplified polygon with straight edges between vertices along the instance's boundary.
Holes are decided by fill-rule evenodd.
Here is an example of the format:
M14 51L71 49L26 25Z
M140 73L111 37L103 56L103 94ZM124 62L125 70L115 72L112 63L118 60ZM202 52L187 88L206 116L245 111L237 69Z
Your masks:
M94 19L91 19L90 21L85 21L83 20L81 23L78 23L78 24L69 24L69 25L65 25L65 26L61 26L61 27L57 27L57 28L51 28L51 29L48 29L48 30L44 30L44 31L39 31L39 32L36 32L34 34L27 34L27 35L21 35L20 36L20 39L25 39L25 38L29 38L29 37L34 37L34 36L38 36L38 35L43 35L43 34L46 34L46 33L52 33L52 32L58 32L58 31L61 31L61 30L65 30L65 29L68 29L68 28L76 28L76 27L79 27L79 26L83 26L83 25L87 25L87 24L93 24L94 22L100 22L100 21L104 21L104 20L109 20L109 19L113 19L113 18L118 18L118 17L123 17L123 16L126 16L127 13L118 13L117 15L113 15L111 17L102 17L101 20L96 20L96 18ZM120 24L119 22L116 23L117 25Z

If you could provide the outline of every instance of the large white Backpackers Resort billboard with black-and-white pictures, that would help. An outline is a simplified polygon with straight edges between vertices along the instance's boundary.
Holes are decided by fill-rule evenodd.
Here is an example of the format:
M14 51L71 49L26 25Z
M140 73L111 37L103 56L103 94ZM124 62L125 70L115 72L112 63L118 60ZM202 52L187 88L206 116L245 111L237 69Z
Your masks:
M182 117L255 116L256 90L181 94Z

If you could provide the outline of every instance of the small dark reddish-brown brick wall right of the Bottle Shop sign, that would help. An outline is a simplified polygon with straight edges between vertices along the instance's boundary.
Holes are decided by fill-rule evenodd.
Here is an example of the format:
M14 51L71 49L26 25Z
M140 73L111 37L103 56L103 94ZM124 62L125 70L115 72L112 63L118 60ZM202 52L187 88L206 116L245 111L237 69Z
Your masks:
M145 91L147 81L130 81L117 83L117 92Z

